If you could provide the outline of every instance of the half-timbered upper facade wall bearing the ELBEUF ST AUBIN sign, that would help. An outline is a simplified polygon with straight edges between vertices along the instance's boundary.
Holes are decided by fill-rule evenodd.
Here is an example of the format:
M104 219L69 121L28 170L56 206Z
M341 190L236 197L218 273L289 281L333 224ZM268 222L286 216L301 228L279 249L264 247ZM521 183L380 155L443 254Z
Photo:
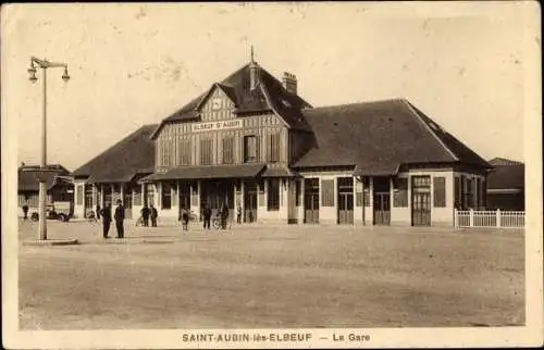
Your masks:
M156 141L157 171L166 172L172 167L189 165L243 164L246 136L257 137L258 157L252 162L265 163L270 161L269 135L279 135L279 159L274 163L287 165L289 134L285 123L273 113L237 116L234 108L228 97L215 88L203 102L199 121L164 125ZM226 138L234 139L232 161L223 157L223 140ZM211 142L211 164L202 164L201 140ZM186 153L190 154L190 159Z

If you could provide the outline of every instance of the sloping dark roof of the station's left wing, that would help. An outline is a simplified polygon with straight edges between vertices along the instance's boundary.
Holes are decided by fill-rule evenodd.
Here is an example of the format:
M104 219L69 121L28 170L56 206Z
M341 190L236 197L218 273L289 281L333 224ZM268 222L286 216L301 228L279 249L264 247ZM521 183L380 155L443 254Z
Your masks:
M91 183L129 182L154 167L154 141L149 138L156 124L144 125L104 152L75 170L72 175Z

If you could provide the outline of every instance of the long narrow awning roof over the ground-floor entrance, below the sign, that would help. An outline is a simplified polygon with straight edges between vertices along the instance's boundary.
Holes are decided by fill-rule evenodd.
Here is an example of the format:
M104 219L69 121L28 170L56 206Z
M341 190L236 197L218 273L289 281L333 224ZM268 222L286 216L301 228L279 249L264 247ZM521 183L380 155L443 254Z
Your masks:
M163 174L151 174L141 178L139 183L200 178L251 178L258 176L264 166L264 164L181 166Z

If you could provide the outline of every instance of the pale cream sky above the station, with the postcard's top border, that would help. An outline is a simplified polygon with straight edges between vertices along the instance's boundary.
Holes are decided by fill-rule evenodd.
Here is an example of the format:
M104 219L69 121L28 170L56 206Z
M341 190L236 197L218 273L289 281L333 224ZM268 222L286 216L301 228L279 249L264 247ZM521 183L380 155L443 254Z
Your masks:
M533 8L534 10L534 8ZM17 163L38 164L48 71L48 163L73 171L249 61L297 76L313 107L406 98L484 159L523 161L523 3L20 4L2 8L2 118ZM539 32L540 33L540 32ZM540 75L539 75L540 76Z

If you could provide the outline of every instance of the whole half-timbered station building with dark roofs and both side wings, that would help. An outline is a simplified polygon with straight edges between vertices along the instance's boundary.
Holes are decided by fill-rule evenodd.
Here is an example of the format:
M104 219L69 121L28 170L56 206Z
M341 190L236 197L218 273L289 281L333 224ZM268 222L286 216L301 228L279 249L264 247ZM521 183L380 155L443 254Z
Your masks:
M75 211L122 199L162 217L226 203L245 223L453 225L491 165L405 99L312 108L249 62L76 170Z

